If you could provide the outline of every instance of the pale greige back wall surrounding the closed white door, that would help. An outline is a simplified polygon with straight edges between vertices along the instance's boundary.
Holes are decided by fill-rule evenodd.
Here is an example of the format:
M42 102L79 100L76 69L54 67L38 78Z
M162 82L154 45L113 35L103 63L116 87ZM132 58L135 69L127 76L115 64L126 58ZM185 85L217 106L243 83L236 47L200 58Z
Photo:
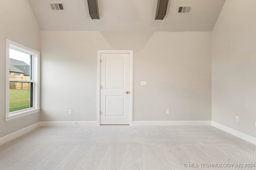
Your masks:
M96 121L98 49L134 50L134 120L209 121L211 36L41 31L41 121Z

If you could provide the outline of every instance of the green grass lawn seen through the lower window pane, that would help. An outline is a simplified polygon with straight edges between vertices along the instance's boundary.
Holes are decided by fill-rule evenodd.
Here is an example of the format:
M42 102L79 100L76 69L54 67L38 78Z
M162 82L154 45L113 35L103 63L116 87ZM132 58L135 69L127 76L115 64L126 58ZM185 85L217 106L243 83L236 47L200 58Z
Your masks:
M10 89L9 112L30 107L30 90Z

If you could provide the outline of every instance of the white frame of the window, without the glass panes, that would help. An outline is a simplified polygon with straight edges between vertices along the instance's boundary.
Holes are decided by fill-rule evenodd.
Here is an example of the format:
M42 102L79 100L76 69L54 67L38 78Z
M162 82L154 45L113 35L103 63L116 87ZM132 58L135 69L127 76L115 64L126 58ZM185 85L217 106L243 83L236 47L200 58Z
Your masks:
M31 55L32 58L32 68L31 68L31 80L17 80L10 79L9 74L9 65L10 65L10 49L20 51ZM9 112L9 89L10 89L10 80L15 82L31 82L33 84L33 96L32 96L32 107L17 111ZM40 112L40 52L10 39L6 39L6 113L5 121L16 119L25 115L32 113Z

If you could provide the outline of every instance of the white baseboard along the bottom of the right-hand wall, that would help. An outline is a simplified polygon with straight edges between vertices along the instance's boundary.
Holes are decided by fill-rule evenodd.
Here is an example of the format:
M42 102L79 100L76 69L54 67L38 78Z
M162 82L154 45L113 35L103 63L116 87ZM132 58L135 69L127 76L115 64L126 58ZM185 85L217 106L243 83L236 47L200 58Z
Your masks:
M216 122L214 122L214 121L212 121L212 126L218 128L218 129L220 129L220 130L222 130L222 131L225 131L225 132L227 132L227 133L230 133L231 135L234 135L234 136L236 136L236 137L239 137L239 138L241 138L241 139L244 139L245 141L248 141L248 142L250 142L250 143L253 143L254 145L256 145L256 138L254 138L254 137L251 137L251 136L249 136L249 135L246 135L246 134L244 134L244 133L242 133L242 132L236 131L236 130L234 130L234 129L231 129L230 127L226 127L226 126L221 125L221 124L219 124L219 123L216 123Z

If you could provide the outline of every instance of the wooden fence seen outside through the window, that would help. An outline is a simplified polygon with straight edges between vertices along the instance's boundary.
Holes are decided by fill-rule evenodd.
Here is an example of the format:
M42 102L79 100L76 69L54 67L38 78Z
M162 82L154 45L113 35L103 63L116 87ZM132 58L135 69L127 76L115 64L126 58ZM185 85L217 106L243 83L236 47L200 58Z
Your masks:
M16 75L12 75L12 74L9 74L9 78L19 79L19 80L30 80L29 76L16 76ZM30 83L10 82L10 89L29 90Z

